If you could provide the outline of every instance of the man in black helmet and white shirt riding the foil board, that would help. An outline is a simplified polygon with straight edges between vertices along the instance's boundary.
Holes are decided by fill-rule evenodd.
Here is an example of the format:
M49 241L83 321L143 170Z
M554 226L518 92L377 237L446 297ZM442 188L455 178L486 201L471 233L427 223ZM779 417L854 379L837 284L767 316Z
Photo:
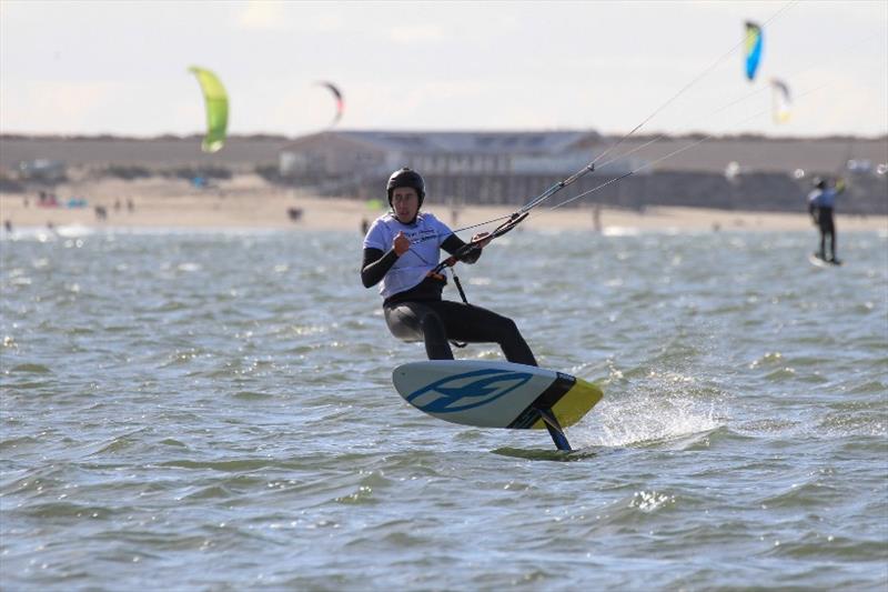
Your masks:
M430 360L453 360L448 340L498 343L506 360L537 365L531 348L512 319L490 310L442 299L447 283L433 273L440 250L453 254L465 243L434 214L421 212L425 182L407 168L392 173L387 183L392 211L377 218L364 237L361 281L365 288L381 283L383 314L392 334L405 341L424 341ZM474 263L482 241L462 259Z

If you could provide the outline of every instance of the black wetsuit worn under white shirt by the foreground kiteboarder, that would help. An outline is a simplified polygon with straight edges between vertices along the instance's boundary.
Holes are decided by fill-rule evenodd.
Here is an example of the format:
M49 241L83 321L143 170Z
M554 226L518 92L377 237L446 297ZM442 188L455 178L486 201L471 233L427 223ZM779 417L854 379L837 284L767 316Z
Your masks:
M455 253L465 243L451 234L441 244L448 253ZM474 263L481 257L476 249L463 261ZM364 249L361 281L365 288L377 284L397 261L394 249L382 252ZM443 300L446 284L443 277L426 277L410 290L389 297L382 304L389 330L404 341L425 341L430 360L453 360L447 340L468 343L498 343L506 360L521 364L537 365L531 348L524 341L515 322L493 311Z

